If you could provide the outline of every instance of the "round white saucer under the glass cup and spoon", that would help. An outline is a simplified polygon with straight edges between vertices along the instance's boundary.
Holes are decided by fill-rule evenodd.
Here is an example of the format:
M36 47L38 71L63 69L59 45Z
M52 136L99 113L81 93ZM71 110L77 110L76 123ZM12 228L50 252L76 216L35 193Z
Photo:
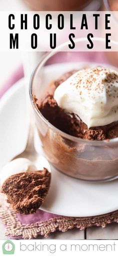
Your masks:
M21 79L0 100L0 167L25 147L26 127L24 80ZM117 196L118 180L85 182L52 168L50 189L41 209L67 216L98 215L118 209Z

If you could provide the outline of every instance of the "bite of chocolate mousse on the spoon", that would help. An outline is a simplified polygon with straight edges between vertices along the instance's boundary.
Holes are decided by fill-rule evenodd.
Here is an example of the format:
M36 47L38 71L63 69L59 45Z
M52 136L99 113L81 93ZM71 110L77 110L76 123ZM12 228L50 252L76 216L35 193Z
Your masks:
M43 203L50 184L50 173L46 168L33 172L20 172L9 176L1 186L7 202L15 212L35 213Z

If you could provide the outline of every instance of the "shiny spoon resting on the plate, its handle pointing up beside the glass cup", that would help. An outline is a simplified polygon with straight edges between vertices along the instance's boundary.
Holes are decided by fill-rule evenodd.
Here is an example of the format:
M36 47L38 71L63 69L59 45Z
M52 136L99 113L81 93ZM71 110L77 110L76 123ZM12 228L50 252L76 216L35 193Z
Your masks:
M10 175L24 171L42 170L44 167L51 174L50 164L47 159L37 153L34 147L34 117L30 111L30 124L27 136L27 143L23 152L14 156L7 164L5 164L0 173L0 184Z

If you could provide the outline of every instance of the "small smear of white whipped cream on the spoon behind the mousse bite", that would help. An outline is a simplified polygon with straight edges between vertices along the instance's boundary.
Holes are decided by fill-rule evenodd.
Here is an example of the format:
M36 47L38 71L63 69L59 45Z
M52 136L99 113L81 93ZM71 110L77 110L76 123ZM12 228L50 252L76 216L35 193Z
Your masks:
M0 184L2 184L10 175L25 171L36 171L36 167L29 159L19 157L9 161L0 171Z

